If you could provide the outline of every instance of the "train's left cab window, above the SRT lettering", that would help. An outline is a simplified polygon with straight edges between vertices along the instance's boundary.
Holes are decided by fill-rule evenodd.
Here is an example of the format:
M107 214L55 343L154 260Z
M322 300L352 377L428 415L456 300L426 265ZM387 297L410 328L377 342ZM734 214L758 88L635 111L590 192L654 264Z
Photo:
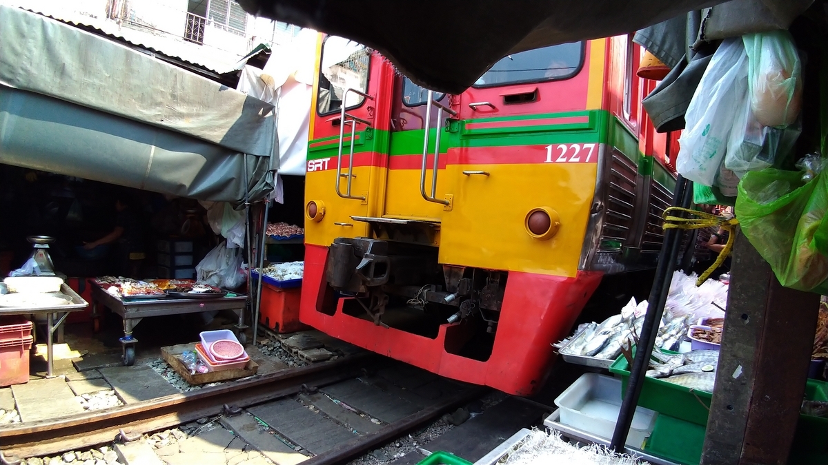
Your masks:
M316 109L320 115L342 108L345 89L368 90L368 65L371 50L354 41L329 36L322 43L319 93ZM357 108L365 98L357 93L345 96L345 108Z

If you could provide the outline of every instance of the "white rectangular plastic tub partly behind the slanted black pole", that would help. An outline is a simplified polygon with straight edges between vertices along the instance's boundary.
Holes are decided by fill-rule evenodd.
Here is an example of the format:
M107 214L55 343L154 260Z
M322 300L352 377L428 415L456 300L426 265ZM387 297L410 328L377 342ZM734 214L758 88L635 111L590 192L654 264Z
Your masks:
M561 409L561 424L612 439L621 410L621 380L597 373L585 373L555 400ZM627 446L643 448L652 434L656 412L637 407L627 435Z

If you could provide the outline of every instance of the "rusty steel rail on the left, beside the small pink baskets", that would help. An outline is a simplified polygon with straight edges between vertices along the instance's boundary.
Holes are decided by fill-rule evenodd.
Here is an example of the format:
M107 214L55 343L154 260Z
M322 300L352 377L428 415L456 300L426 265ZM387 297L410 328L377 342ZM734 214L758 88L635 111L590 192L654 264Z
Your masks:
M0 448L6 457L17 458L89 448L113 441L122 429L129 435L146 434L205 416L220 415L224 405L248 407L296 394L303 385L327 386L359 376L364 363L376 358L373 353L366 352L84 415L0 427Z

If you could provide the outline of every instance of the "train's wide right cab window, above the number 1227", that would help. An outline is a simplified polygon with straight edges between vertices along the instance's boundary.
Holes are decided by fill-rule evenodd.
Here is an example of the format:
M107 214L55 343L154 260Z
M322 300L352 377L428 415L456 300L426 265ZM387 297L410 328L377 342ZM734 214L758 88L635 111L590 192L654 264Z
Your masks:
M584 65L584 42L542 47L508 55L477 79L473 87L569 79Z

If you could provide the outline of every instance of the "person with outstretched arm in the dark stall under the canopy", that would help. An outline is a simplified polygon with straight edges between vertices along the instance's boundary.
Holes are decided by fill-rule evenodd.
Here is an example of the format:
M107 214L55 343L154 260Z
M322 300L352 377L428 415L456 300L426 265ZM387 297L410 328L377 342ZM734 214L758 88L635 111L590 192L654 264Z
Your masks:
M92 250L104 244L116 242L118 267L122 276L141 278L141 264L145 258L143 228L137 207L127 194L115 198L115 228L97 241L86 242L84 248Z

